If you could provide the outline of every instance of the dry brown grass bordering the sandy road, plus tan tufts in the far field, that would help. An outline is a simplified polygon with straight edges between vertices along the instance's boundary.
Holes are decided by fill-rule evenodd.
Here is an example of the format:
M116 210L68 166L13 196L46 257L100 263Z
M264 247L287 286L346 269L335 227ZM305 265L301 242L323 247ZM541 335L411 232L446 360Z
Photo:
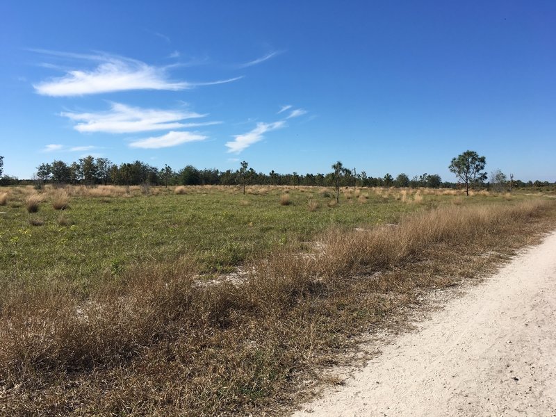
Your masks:
M247 188L253 196L271 191L281 196L280 204L291 198L288 188ZM298 188L295 201L310 191ZM400 202L422 205L444 195L345 190L345 205L321 193L327 206L320 210L314 197L305 201L309 211L318 210L313 216L354 200L365 202L354 204L363 209L372 205L364 194L372 191L381 196L373 204L399 195ZM204 190L167 193L202 196ZM248 200L237 201L235 207ZM281 210L297 206L273 201ZM72 200L72 213L73 207ZM199 265L182 256L136 263L86 294L64 281L13 286L0 300L1 412L277 414L310 395L318 368L341 361L359 340L354 336L402 315L422 291L484 271L553 227L555 217L555 205L544 200L448 203L421 207L395 225L329 229L315 236L318 245L308 254L278 247L243 265L243 284L200 285ZM67 224L62 219L58 224ZM302 384L307 380L313 382Z

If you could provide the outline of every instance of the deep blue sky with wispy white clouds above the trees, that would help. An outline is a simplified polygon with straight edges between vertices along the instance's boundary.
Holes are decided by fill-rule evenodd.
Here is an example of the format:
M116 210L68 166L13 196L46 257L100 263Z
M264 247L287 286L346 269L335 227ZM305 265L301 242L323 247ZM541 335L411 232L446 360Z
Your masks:
M0 155L556 181L556 2L2 1Z

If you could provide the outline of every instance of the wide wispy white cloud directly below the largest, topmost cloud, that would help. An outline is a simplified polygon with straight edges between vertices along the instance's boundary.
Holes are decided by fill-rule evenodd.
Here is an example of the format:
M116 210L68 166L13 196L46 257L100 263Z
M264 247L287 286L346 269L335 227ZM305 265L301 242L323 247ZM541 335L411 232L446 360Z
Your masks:
M164 129L182 129L193 126L210 126L221 122L181 123L181 120L206 115L178 110L139 108L112 103L110 111L97 113L60 113L76 122L74 129L81 133L137 133Z

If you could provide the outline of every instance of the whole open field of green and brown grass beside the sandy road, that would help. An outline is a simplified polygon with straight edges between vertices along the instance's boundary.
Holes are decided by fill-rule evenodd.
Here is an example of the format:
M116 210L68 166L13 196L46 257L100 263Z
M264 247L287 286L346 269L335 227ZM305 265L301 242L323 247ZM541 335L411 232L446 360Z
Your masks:
M455 190L2 191L12 415L276 414L354 336L556 224L554 199Z

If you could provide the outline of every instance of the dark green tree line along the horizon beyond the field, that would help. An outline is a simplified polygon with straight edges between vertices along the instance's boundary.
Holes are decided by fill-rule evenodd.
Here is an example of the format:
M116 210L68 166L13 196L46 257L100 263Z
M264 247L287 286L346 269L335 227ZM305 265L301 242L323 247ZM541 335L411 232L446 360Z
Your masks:
M470 152L470 151L468 151ZM461 156L465 156L460 158ZM479 163L484 168L484 163L476 154L471 154L473 158L479 158L475 161L469 154L462 154L458 158L452 160L450 170L456 165L462 167L473 167L473 163ZM453 165L453 164L456 165ZM467 164L467 165L466 165ZM469 165L471 164L471 165ZM26 183L28 181L19 181L16 177L3 175L3 157L0 156L0 185L16 185L17 183ZM461 179L461 183L466 185L466 175L459 177L457 172L452 170L456 176ZM464 170L463 172L466 172ZM502 188L507 189L509 184L516 188L524 188L528 186L550 186L548 181L520 181L514 179L511 175L511 181L507 180L505 174L500 170L491 173L489 183L485 183L486 174L481 172L478 177L473 177L473 172L469 172L467 178L467 186L493 186L500 191ZM135 186L141 184L150 184L153 186L175 186L175 185L239 185L245 188L246 185L275 185L275 186L333 186L334 188L345 186L358 187L427 187L427 188L455 188L459 184L453 182L442 181L438 174L420 174L409 177L405 173L400 173L396 177L386 173L383 177L369 176L364 170L358 172L355 168L344 167L341 162L332 165L332 172L318 174L299 174L292 172L291 174L280 174L274 170L268 174L256 172L245 161L240 163L237 170L220 171L215 168L199 170L193 165L186 165L180 170L174 170L172 167L165 165L163 168L154 167L141 161L133 163L121 163L120 165L112 163L108 158L95 158L86 156L74 161L70 164L64 161L54 160L51 163L42 163L37 167L37 172L33 177L35 183L54 183L54 184L84 184L87 186L94 185L123 185Z

